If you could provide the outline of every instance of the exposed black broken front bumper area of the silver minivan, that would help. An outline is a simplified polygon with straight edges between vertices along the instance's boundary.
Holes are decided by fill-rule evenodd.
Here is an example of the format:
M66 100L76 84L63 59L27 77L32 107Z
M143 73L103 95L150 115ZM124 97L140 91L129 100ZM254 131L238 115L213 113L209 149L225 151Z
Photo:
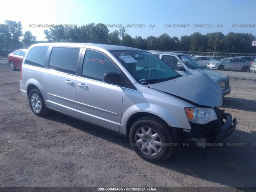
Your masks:
M236 118L224 110L215 109L218 120L206 125L191 123L191 129L183 129L184 139L199 148L205 148L206 143L218 143L230 136L236 129Z

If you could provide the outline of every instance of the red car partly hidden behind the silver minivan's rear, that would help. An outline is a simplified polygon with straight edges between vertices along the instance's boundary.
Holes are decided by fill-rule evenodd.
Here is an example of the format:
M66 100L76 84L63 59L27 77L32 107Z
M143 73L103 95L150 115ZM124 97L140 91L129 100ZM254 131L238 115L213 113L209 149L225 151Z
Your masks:
M16 70L17 68L21 68L21 64L26 52L27 52L27 49L18 49L8 54L8 64L11 70Z

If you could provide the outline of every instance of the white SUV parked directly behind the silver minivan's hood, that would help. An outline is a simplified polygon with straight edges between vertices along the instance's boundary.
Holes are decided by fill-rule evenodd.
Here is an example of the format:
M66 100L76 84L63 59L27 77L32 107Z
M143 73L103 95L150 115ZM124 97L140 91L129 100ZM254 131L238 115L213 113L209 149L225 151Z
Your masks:
M207 74L220 86L223 96L230 94L229 77L216 71L203 68L198 62L193 60L191 56L183 53L174 53L166 51L150 51L155 56L162 59L170 67L176 70L180 75Z

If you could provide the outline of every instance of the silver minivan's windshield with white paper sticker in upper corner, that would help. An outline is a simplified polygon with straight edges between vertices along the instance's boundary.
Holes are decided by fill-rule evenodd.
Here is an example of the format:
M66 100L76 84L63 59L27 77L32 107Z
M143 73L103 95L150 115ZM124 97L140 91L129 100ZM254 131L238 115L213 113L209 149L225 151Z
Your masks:
M153 84L180 77L168 64L149 52L111 51L141 84Z

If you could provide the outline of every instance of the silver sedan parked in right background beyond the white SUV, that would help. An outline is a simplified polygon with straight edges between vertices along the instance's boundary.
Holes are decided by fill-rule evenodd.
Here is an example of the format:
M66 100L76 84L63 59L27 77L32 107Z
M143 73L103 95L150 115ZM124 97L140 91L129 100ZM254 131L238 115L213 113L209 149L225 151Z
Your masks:
M216 62L209 62L207 68L218 70L250 70L251 62L241 58L225 58Z

